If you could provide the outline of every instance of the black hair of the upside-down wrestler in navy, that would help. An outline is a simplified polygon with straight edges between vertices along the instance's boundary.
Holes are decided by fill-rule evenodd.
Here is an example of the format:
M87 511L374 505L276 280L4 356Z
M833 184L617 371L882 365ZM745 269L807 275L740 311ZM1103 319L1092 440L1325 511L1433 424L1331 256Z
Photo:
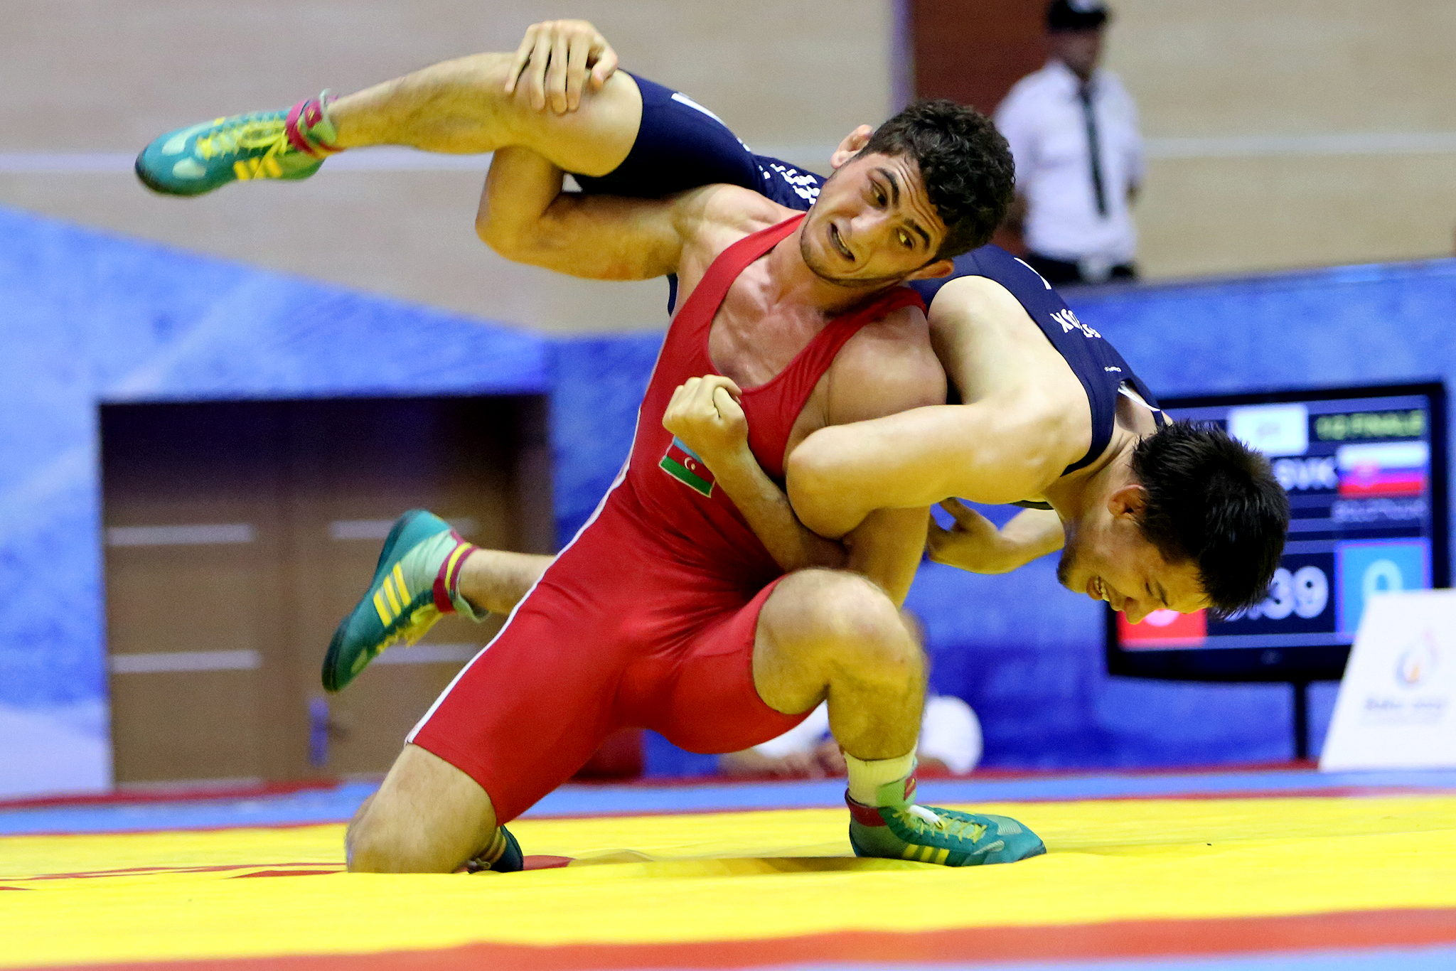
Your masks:
M1192 560L1210 614L1264 600L1289 531L1289 496L1268 459L1217 425L1174 422L1133 451L1147 491L1139 528L1168 562Z

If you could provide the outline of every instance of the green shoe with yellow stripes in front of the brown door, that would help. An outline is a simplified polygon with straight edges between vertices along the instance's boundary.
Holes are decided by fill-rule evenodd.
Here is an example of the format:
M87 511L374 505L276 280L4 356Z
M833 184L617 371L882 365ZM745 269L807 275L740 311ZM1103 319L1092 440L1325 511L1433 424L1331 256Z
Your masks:
M456 588L473 549L434 512L411 510L395 520L368 592L339 622L329 642L323 689L338 691L384 648L415 643L443 614L483 620L485 614Z

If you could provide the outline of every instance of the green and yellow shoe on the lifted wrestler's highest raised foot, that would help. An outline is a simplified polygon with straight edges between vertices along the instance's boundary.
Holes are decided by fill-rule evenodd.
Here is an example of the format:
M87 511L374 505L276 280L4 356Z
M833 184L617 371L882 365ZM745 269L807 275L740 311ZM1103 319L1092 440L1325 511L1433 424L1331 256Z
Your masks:
M287 111L214 118L167 132L137 156L137 178L163 195L202 195L248 179L307 179L339 151L328 92Z

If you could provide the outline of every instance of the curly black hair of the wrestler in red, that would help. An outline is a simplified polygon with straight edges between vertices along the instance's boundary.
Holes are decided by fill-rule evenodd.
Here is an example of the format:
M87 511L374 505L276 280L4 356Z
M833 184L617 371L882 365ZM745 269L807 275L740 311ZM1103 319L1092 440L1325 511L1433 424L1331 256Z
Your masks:
M879 125L860 154L909 156L945 223L935 259L990 242L1016 186L1010 147L992 119L954 100L919 100Z

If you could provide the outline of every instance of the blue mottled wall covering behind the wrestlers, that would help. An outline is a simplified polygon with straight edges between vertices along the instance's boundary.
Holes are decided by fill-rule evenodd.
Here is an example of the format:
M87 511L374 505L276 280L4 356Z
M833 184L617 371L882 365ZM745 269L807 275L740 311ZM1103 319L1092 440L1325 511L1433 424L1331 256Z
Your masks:
M1158 393L1456 377L1456 261L1083 291L1076 313ZM0 705L105 699L96 406L118 400L549 393L561 542L628 454L661 333L550 341L0 210ZM1456 425L1453 425L1456 428ZM993 766L1290 754L1281 686L1109 678L1099 607L1054 558L927 565L910 594L933 686ZM1313 740L1334 691L1315 693ZM711 769L649 740L657 774Z

